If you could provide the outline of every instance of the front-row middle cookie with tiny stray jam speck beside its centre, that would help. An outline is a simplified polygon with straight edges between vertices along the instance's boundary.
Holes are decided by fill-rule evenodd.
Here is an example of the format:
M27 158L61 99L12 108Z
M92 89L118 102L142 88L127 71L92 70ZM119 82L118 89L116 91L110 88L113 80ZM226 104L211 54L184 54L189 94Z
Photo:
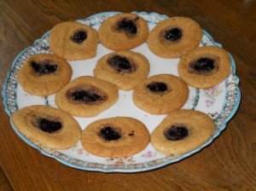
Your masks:
M89 124L81 142L86 151L100 157L127 157L148 146L150 135L137 119L116 117Z

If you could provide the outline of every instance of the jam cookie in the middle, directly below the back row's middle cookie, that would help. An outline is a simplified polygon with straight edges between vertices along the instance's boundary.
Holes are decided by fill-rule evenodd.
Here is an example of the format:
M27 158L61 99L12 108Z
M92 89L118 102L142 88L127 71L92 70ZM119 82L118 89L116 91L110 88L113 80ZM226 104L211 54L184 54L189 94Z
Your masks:
M145 56L129 50L102 56L94 69L94 76L116 84L120 90L133 90L148 76L150 70Z

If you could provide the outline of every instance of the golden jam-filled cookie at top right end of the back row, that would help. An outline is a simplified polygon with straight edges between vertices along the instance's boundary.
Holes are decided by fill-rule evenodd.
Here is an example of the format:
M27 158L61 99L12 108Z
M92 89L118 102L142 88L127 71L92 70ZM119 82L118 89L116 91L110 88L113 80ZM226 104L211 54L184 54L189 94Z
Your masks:
M161 21L148 34L148 48L163 58L179 58L199 46L201 26L186 17L172 17Z

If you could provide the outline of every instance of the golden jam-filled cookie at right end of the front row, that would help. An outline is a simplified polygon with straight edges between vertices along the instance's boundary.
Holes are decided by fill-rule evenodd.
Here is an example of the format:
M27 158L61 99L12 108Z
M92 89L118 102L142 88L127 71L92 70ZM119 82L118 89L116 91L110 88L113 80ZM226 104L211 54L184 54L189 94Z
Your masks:
M206 114L195 110L177 110L166 116L151 134L153 147L166 154L183 154L207 142L215 124Z

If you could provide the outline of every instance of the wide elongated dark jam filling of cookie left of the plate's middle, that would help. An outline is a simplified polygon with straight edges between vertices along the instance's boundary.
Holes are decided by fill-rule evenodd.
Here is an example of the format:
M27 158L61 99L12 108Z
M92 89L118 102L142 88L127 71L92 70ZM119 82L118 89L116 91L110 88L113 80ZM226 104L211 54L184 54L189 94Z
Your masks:
M103 101L104 97L98 95L95 90L75 90L71 94L73 101L96 102Z

